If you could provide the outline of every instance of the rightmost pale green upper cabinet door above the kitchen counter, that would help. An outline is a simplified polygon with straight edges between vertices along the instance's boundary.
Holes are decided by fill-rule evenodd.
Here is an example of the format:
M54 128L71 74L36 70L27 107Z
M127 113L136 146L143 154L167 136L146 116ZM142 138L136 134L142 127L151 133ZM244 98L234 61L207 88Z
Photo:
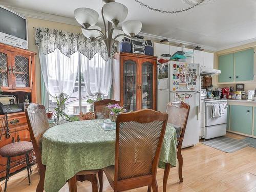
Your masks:
M254 49L234 53L234 81L253 80Z

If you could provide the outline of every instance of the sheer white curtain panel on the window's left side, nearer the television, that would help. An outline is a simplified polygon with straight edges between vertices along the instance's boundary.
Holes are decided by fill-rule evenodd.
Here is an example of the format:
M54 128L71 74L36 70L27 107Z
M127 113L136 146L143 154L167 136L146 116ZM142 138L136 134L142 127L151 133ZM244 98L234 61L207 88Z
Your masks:
M55 97L61 94L66 97L71 95L75 86L78 72L80 53L75 52L70 57L55 49L44 55L39 48L39 57L42 76L48 93Z

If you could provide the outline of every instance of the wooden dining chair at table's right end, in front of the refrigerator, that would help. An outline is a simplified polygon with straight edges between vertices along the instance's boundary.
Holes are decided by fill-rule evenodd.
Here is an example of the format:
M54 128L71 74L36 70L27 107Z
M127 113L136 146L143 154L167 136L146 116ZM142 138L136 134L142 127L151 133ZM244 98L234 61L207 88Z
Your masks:
M187 118L189 114L190 106L182 101L169 102L167 104L166 113L168 116L168 123L173 124L174 126L180 127L180 133L177 133L177 141L178 141L178 151L177 158L179 162L179 179L180 183L183 182L182 178L182 167L183 167L183 157L181 155L181 146L184 139L184 134L186 131ZM170 172L171 165L169 163L165 163L164 169L164 178L163 178L163 191L166 192L167 180Z

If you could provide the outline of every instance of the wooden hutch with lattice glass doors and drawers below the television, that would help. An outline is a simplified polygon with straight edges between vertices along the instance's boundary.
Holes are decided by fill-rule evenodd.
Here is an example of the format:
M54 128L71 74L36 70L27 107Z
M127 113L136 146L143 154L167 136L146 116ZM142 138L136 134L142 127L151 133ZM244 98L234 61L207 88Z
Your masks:
M23 103L25 96L29 97L29 102L36 103L35 55L36 53L28 50L0 44L0 87L4 95L14 95L18 103ZM0 147L17 141L31 141L25 112L8 114L8 118L10 138L6 138L5 125ZM5 119L5 115L0 115L0 119ZM11 160L26 162L25 156ZM6 161L7 158L0 156L0 178L6 175ZM11 163L10 173L25 166L26 164Z

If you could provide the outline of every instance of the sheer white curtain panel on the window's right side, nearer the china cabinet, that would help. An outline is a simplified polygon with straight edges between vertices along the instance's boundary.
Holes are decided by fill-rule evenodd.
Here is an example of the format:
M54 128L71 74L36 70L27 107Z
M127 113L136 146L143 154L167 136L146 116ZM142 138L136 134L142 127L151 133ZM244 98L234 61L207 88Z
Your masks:
M88 96L108 96L112 84L111 60L105 61L99 53L91 60L81 54L81 73Z

